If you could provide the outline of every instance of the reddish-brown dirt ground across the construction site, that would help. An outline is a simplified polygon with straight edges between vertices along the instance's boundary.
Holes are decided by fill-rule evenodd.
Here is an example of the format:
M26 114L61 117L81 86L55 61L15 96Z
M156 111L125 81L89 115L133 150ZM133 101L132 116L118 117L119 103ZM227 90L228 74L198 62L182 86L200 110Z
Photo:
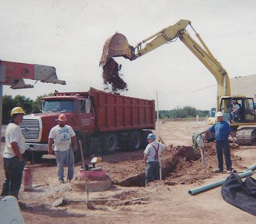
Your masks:
M254 223L255 216L227 204L221 188L190 196L188 190L225 179L228 174L214 173L217 166L214 143L205 145L207 166L202 166L199 151L193 153L192 132L203 131L205 122L160 123L160 134L170 152L163 152L163 180L145 188L143 150L116 152L103 156L102 168L113 181L108 191L92 192L90 199L95 210L83 202L66 203L52 207L52 202L63 196L68 199L85 199L86 194L72 189L72 183L59 184L53 156L45 156L35 164L34 191L20 189L20 201L29 208L22 210L26 223ZM157 134L157 131L154 131ZM170 145L173 145L170 147ZM3 154L1 144L1 155ZM86 159L89 162L89 159ZM232 166L237 173L255 164L256 148L232 148ZM81 163L76 164L75 173ZM0 159L0 190L4 173ZM67 168L66 168L67 169ZM67 172L67 170L65 170ZM256 178L256 175L252 175ZM73 180L72 180L73 181ZM75 180L74 180L75 181ZM108 201L106 201L108 199Z

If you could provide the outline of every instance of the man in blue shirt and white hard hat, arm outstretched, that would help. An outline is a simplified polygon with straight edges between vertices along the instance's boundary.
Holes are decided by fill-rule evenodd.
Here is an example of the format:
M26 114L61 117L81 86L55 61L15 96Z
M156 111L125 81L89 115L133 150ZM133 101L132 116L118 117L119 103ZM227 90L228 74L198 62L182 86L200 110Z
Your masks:
M229 140L228 136L232 136L233 143L236 143L236 139L232 129L228 122L223 120L223 113L218 111L217 114L217 122L212 125L209 129L200 132L200 134L215 132L215 140L216 140L216 150L217 150L217 157L218 157L218 169L215 170L216 173L223 172L223 154L225 156L225 163L227 166L227 173L232 172L232 162L230 158L230 147L229 147Z

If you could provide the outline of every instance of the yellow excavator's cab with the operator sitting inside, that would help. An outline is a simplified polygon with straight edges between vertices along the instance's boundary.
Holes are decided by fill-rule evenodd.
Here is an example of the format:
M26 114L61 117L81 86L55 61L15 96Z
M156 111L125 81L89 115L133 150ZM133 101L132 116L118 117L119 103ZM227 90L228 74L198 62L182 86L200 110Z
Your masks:
M230 122L230 125L237 126L243 123L256 122L253 98L223 97L220 111L223 112L224 120Z

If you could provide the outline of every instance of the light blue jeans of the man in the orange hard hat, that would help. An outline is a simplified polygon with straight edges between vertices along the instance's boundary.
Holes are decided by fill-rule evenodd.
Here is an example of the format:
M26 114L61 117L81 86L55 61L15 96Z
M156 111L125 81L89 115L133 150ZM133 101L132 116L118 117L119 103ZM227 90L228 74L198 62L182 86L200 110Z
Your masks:
M67 164L68 166L68 179L73 179L74 177L74 153L72 148L69 148L68 150L65 150L63 152L61 151L55 151L55 158L57 163L57 171L58 171L58 177L59 179L64 178L64 165ZM68 164L69 160L69 164Z

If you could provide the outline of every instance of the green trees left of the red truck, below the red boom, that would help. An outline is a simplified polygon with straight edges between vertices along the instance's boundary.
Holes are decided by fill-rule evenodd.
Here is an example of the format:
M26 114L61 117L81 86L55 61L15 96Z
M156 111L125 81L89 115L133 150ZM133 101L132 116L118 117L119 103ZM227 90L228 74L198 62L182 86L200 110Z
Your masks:
M20 106L26 111L26 114L29 113L40 113L42 97L52 96L53 93L40 95L36 97L35 100L25 97L24 95L17 95L14 98L11 95L3 96L3 114L2 114L2 124L8 124L11 119L11 110L17 106Z

